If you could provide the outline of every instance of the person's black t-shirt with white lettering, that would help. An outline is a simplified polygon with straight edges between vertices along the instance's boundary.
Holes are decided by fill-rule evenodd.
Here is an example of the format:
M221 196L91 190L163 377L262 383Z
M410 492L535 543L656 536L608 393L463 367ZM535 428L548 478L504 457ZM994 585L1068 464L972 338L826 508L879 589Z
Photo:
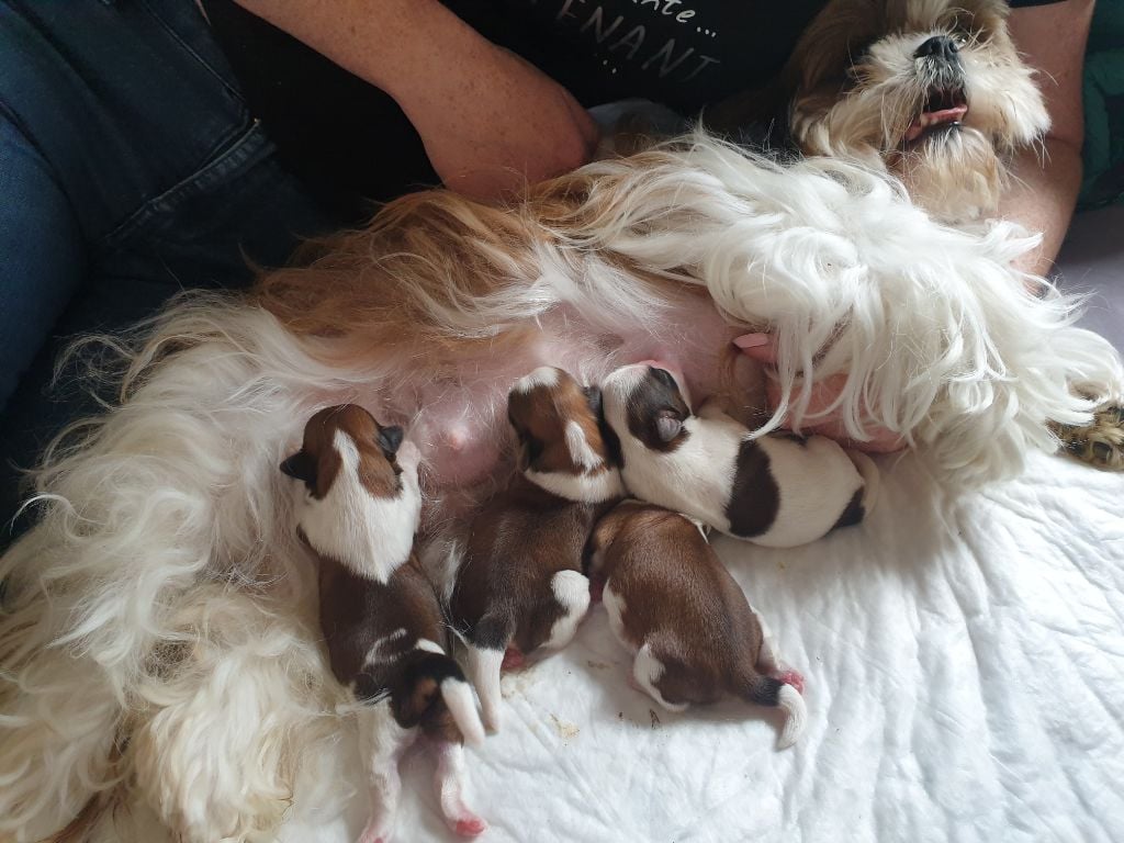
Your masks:
M1034 6L1057 0L1012 0ZM444 0L586 107L642 97L683 115L768 83L826 0ZM203 0L282 158L348 218L437 176L388 96L234 0ZM372 13L375 13L372 10Z

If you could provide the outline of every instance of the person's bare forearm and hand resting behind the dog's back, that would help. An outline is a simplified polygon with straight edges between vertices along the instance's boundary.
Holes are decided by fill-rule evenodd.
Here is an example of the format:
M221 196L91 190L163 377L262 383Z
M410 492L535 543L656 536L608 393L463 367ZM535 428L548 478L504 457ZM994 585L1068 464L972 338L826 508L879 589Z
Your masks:
M564 88L437 0L237 2L393 97L460 192L496 198L579 166L597 144Z

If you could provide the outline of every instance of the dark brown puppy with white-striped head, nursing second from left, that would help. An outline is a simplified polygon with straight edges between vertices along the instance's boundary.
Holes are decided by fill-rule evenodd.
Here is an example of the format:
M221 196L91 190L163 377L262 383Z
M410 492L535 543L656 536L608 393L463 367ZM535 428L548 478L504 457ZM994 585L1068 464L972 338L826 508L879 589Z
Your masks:
M508 396L522 473L473 518L450 599L492 729L505 653L517 662L565 646L589 608L586 543L624 493L598 400L596 389L552 366L520 379Z

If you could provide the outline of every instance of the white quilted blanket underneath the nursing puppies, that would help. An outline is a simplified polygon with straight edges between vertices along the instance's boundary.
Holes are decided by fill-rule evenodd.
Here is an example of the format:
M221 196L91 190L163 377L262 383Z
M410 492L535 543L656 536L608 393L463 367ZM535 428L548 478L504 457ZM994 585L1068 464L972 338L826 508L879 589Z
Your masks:
M1124 475L1043 456L949 501L915 460L881 464L860 527L717 542L807 680L795 749L773 713L629 689L598 606L504 679L504 731L469 753L481 841L1124 840ZM432 763L404 761L402 843L453 839ZM361 781L330 774L354 815L298 806L283 840L354 840Z

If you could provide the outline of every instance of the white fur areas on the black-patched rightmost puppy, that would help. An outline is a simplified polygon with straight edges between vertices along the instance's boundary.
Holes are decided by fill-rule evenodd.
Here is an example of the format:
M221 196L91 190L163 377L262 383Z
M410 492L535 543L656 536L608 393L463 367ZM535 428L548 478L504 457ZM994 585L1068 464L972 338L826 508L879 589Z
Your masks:
M737 456L750 430L706 405L683 422L686 438L669 452L647 447L628 429L627 408L647 366L624 366L601 383L605 418L620 439L622 477L628 491L662 507L699 518L728 535L727 509L737 481ZM780 506L772 524L755 536L738 536L767 547L814 542L839 520L863 478L837 442L810 436L804 443L762 436ZM871 468L873 464L871 463Z

